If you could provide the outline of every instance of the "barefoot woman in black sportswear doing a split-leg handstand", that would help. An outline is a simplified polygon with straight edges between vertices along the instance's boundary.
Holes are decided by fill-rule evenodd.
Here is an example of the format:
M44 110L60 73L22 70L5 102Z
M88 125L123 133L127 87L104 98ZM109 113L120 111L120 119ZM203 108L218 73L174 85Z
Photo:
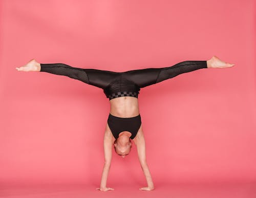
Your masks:
M131 150L132 139L137 146L139 161L147 182L147 186L140 188L140 190L153 190L154 184L146 162L145 140L139 113L138 94L140 88L198 69L228 68L233 67L233 65L213 56L207 61L183 61L172 67L112 72L74 68L62 63L44 64L32 59L16 70L40 71L68 76L103 89L104 94L110 100L111 110L104 133L105 161L101 184L100 188L97 189L101 191L114 190L106 187L112 159L112 145L114 144L116 153L124 158Z

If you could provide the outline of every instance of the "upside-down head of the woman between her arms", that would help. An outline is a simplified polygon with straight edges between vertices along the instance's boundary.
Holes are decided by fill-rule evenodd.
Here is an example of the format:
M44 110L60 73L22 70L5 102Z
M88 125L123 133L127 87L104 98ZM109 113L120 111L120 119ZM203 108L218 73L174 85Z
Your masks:
M132 148L132 142L131 139L123 140L120 137L117 138L114 142L114 148L116 153L124 158L125 156L129 155L131 148Z

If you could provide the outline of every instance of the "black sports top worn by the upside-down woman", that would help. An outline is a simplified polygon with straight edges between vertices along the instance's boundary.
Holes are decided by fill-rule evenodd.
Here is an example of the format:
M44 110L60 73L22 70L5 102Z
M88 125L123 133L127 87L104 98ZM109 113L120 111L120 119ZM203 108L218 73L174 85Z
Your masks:
M115 139L119 137L122 131L131 132L132 136L130 138L134 139L141 125L141 117L139 114L131 118L120 118L110 114L108 124Z

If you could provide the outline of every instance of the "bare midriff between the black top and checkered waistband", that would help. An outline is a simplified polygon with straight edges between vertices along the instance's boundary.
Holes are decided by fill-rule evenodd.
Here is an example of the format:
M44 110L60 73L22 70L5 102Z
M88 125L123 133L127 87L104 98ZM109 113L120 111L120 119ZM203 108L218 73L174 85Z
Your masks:
M131 118L139 115L138 98L131 96L110 100L110 114L120 118Z

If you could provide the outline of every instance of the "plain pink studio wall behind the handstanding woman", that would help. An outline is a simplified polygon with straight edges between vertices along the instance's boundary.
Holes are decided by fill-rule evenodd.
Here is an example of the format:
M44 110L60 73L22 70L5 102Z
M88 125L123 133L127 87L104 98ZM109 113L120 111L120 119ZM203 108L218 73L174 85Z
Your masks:
M43 72L40 63L122 72L213 55L203 69L139 94L155 187L255 182L255 2L1 1L0 183L99 187L109 99L98 87ZM146 185L135 144L115 155L108 186ZM254 183L255 184L255 183Z

